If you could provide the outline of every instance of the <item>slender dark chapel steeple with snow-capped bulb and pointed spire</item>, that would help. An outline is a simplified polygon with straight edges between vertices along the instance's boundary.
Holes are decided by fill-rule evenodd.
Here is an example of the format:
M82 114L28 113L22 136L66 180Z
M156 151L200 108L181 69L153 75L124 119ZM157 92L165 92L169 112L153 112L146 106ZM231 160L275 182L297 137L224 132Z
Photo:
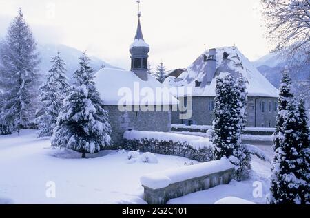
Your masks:
M138 2L139 3L139 2ZM141 12L138 12L138 27L136 29L136 36L134 37L134 43L130 45L130 56L132 60L131 70L141 78L141 80L147 81L147 59L149 58L149 45L145 43L141 28Z

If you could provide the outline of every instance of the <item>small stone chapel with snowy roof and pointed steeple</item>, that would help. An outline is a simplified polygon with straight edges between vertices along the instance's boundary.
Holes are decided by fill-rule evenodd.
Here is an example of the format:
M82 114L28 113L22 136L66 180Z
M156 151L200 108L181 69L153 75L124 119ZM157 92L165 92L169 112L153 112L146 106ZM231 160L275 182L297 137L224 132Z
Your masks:
M170 131L171 108L178 105L178 100L148 74L149 45L143 39L140 17L139 12L136 36L130 45L131 70L103 68L94 79L109 113L114 146L121 144L127 130Z

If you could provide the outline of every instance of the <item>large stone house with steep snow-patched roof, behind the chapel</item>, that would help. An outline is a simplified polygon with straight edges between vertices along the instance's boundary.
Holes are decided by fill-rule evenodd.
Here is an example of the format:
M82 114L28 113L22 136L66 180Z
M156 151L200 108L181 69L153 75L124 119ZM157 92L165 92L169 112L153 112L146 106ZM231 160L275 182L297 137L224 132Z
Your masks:
M172 112L172 124L211 125L214 119L216 76L229 73L247 79L247 127L275 127L278 89L262 76L237 47L206 50L182 74L168 77L166 87L190 87L192 94L174 93L185 107L192 105L192 118ZM188 98L188 97L192 98Z

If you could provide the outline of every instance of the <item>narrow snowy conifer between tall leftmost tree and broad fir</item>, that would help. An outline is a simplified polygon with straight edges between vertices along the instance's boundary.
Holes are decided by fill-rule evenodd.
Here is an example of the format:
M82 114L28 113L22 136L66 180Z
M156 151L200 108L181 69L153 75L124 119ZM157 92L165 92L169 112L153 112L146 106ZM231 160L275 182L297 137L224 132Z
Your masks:
M52 58L52 67L46 75L45 83L39 88L42 102L39 110L41 116L37 118L39 126L39 138L51 136L56 125L63 100L68 94L69 84L65 77L65 62L58 52Z

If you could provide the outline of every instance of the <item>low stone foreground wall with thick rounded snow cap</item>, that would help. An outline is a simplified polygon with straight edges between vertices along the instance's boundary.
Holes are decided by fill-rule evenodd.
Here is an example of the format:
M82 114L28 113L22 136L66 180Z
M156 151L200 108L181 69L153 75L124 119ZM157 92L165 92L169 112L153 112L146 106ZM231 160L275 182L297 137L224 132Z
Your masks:
M223 158L144 175L141 177L144 199L149 204L165 204L169 199L228 184L235 167Z

